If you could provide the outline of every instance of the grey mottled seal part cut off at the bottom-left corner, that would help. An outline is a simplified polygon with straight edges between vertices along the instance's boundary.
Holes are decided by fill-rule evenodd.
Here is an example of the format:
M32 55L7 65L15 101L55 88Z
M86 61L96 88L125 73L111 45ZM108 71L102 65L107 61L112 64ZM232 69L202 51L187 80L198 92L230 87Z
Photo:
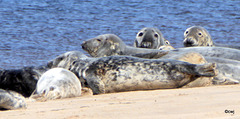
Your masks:
M15 91L0 89L0 110L25 109L25 98Z

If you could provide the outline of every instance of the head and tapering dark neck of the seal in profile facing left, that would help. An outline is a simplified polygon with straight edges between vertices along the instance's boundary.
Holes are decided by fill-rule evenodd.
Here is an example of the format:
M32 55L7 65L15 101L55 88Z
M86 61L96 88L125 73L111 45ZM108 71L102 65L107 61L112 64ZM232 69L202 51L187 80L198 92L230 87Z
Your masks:
M82 48L93 57L111 55L134 55L137 53L157 52L165 55L168 51L146 48L135 48L127 46L118 36L114 34L99 35L82 43Z

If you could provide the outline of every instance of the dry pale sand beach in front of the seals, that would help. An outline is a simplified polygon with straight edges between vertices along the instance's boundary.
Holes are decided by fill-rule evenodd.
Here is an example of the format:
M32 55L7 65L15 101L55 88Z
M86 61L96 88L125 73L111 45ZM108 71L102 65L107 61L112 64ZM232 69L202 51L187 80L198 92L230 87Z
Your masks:
M38 118L240 119L240 85L132 91L28 102L27 109L0 112L0 119Z

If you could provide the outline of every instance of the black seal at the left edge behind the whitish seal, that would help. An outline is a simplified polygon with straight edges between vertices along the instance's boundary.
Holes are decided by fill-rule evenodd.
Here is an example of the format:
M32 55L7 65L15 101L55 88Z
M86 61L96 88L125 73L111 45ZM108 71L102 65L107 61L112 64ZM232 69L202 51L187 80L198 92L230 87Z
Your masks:
M47 70L45 66L0 70L0 88L29 97L36 88L37 80Z

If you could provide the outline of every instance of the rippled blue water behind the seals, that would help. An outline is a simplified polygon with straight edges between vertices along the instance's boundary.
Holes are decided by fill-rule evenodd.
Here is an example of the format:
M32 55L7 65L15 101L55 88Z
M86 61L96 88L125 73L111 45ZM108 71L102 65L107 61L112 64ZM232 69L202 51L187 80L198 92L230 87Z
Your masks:
M217 43L240 44L240 1L0 0L0 68L46 64L105 33L132 45L143 27L159 28L179 48L193 25Z

